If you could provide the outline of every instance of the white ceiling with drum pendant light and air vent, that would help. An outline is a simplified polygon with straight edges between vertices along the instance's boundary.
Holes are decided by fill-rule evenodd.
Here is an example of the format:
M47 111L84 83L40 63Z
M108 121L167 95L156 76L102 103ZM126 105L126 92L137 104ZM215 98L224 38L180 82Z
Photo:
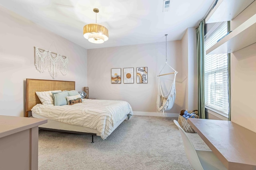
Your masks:
M215 0L0 0L0 5L85 49L156 43L182 39L188 27L204 18ZM108 28L102 44L83 37L83 27L96 22Z

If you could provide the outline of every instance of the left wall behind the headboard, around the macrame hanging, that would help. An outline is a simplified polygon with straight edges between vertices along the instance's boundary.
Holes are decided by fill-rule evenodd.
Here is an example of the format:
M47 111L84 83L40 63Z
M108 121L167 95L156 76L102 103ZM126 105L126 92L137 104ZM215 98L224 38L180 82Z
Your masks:
M87 51L0 6L0 115L24 116L26 78L52 80L34 66L34 47L69 57L68 73L55 80L76 81L76 90L87 86Z

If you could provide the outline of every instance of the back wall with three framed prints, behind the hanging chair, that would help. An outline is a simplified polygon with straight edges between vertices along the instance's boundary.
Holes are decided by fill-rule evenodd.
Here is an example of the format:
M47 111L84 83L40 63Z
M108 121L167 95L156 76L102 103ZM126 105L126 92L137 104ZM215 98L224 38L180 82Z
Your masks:
M162 37L165 39L165 37ZM90 97L96 99L125 100L133 111L156 112L158 89L157 75L165 64L165 42L101 49L88 49L88 86ZM180 113L184 109L182 86L181 42L167 42L168 64L178 71L176 77L176 101L167 113ZM148 67L148 83L124 84L123 68ZM122 83L111 84L111 68L122 68Z

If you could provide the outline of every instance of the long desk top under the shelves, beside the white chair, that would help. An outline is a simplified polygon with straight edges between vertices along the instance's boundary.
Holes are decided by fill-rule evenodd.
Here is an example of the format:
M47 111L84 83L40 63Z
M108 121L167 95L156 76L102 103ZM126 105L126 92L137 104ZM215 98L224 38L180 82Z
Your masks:
M188 123L229 170L256 170L256 133L231 121L193 119Z

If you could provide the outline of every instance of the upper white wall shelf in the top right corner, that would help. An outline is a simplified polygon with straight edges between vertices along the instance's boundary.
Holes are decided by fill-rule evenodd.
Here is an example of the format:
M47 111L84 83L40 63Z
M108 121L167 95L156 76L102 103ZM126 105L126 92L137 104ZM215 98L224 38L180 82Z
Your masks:
M231 21L254 0L218 0L216 6L206 17L205 23Z

